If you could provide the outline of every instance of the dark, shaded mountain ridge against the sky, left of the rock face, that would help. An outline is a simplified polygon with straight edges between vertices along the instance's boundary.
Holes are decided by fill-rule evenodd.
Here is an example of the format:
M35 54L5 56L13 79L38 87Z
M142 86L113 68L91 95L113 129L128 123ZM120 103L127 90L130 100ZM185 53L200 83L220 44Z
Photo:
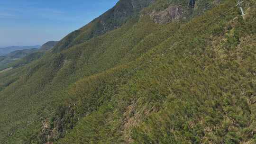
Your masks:
M155 0L119 0L110 10L95 18L88 25L73 31L64 37L54 49L55 52L81 44L95 36L100 36L108 31L114 30L138 16L141 9L149 6Z

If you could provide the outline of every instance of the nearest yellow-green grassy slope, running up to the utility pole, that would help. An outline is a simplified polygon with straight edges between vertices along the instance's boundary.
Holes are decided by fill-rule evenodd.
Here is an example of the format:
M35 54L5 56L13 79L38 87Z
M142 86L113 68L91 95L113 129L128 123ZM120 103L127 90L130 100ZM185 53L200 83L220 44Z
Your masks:
M232 20L238 15L232 12L202 32L187 29L230 5L179 29L146 54L143 61L154 61L134 75L110 72L77 82L71 89L80 97L75 111L88 111L94 99L102 105L57 144L255 143L255 16Z

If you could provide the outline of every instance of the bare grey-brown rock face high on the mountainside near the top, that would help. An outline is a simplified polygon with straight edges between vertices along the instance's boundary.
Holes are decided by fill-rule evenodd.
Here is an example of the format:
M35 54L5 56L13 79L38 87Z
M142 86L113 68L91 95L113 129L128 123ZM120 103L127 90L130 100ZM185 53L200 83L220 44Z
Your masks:
M179 5L169 6L163 11L153 11L149 14L153 18L154 22L159 24L165 24L172 22L173 20L180 19L183 17L183 7Z

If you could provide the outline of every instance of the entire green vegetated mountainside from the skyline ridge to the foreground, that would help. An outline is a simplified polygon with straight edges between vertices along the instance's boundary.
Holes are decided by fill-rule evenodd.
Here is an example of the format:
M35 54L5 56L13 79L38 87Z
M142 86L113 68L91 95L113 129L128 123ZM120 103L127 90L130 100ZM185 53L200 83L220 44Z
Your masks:
M0 73L0 142L256 143L256 1L236 4L120 0Z

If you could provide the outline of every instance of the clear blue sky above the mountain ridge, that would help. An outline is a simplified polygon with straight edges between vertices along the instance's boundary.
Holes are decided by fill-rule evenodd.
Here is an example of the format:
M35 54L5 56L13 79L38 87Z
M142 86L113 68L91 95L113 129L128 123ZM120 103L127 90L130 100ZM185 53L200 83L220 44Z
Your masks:
M57 41L118 0L0 0L0 47Z

